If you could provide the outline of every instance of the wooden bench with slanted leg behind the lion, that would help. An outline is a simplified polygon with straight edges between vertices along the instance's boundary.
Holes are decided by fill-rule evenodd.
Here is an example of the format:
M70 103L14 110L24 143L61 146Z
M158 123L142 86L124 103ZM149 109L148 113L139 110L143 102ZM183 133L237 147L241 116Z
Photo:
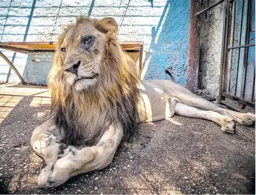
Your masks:
M54 52L57 42L0 42L0 48L21 53L33 52ZM140 41L120 41L123 50L134 59L135 62L139 60L139 79L142 71L142 55L144 44ZM0 56L10 65L21 80L22 84L26 84L19 71L15 68L12 62L0 51Z

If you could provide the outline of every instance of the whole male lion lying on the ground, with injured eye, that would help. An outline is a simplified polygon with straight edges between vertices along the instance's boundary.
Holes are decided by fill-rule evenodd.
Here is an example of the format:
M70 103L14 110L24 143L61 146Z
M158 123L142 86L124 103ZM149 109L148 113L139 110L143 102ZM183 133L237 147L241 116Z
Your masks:
M218 107L175 82L139 81L117 30L112 18L78 18L58 39L47 79L50 118L35 128L30 140L46 162L38 176L40 187L57 187L69 177L107 167L140 122L179 114L213 121L234 133L235 122L255 121L253 113Z

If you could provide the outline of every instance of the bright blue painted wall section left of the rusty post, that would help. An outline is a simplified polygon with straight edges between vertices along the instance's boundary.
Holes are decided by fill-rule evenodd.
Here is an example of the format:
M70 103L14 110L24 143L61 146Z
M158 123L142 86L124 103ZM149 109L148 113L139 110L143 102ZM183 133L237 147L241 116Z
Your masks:
M187 57L189 50L189 1L167 1L162 13L162 28L152 28L146 79L170 79L168 68L176 82L186 84ZM160 30L161 28L161 30Z

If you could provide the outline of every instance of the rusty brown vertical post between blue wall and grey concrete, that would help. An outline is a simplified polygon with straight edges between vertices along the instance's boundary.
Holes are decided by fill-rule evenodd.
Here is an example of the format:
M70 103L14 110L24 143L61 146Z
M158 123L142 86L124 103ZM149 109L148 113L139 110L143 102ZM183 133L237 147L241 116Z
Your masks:
M197 0L190 0L189 24L189 65L187 67L187 88L195 93L198 89L199 39L198 17L196 17Z

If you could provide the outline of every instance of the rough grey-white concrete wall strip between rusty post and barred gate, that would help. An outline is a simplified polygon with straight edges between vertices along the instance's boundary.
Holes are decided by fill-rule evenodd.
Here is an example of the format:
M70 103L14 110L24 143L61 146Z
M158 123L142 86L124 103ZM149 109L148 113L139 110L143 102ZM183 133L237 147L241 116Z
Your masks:
M199 10L219 0L198 4ZM223 38L223 4L199 16L199 73L198 88L218 98L220 83L221 46Z

